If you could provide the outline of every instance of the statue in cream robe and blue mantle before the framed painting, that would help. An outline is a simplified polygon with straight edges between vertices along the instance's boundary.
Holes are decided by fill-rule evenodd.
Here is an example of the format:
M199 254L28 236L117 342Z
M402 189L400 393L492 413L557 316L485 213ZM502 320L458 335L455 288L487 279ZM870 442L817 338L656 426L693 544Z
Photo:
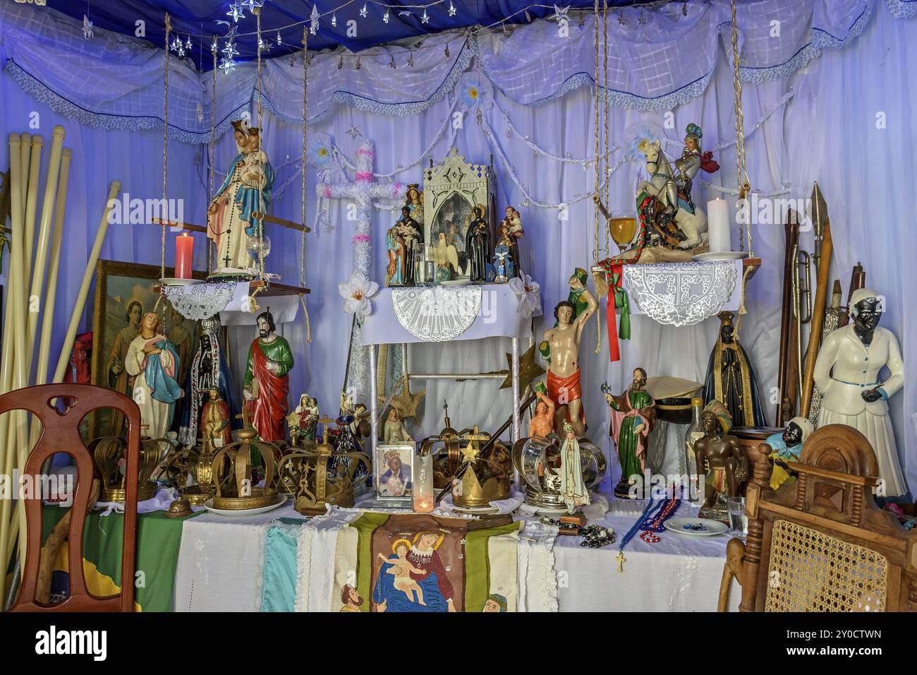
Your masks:
M178 386L179 363L175 345L162 330L162 320L148 311L140 321L140 333L127 348L124 362L134 379L134 402L150 438L164 438L175 413L175 401L184 392Z

